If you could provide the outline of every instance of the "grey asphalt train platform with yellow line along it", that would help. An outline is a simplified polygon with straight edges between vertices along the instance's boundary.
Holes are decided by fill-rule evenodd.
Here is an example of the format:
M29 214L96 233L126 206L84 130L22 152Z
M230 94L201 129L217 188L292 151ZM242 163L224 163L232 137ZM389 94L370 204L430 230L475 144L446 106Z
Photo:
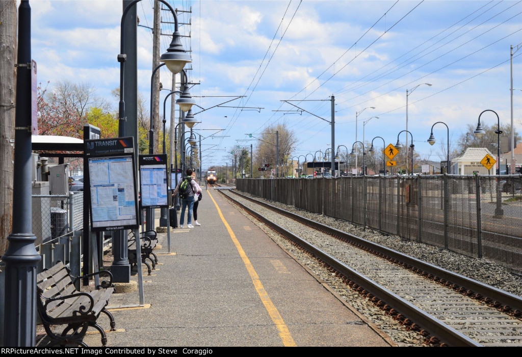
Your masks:
M198 218L171 229L171 253L158 234L145 306L111 310L108 347L393 346L217 190L204 188ZM137 292L115 293L109 306L137 302ZM84 341L101 346L98 334Z

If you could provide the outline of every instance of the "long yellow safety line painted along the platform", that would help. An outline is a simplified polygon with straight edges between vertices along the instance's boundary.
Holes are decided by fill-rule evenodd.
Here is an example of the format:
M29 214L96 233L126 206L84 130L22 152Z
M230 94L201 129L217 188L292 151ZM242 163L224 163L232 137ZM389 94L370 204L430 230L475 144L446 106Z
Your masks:
M259 298L261 298L263 305L265 305L265 308L268 311L268 315L270 315L270 318L272 319L272 321L277 327L277 330L279 331L279 337L281 338L283 345L285 347L297 347L292 338L292 335L290 335L290 331L288 330L287 325L284 323L283 318L279 314L279 311L277 311L277 307L274 305L274 303L272 303L272 300L270 300L270 297L268 296L265 287L263 286L261 280L259 280L259 276L257 275L254 266L250 262L250 259L248 259L248 256L241 247L241 244L239 243L238 239L235 237L232 228L230 228L230 225L227 223L227 220L225 219L225 217L223 217L223 214L221 213L221 210L219 209L216 200L214 200L214 198L210 194L210 191L208 191L208 195L210 196L212 202L216 205L219 216L221 217L221 220L223 221L225 227L227 227L230 238L232 238L235 248L238 249L239 255L241 256L243 263L245 264L246 270L248 270L248 274L250 274L250 277L252 278L252 282L254 283L254 287L256 288L257 293L259 294Z

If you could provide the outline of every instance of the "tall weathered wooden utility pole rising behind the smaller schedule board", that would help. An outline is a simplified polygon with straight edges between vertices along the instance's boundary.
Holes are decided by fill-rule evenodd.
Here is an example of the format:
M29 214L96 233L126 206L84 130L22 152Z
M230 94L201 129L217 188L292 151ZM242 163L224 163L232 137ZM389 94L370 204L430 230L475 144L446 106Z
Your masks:
M154 30L153 30L153 48L152 48L152 70L160 64L160 37L161 37L161 3L154 2ZM153 86L150 89L152 93L152 118L154 126L154 152L159 153L159 142L162 125L160 125L160 70L156 72Z

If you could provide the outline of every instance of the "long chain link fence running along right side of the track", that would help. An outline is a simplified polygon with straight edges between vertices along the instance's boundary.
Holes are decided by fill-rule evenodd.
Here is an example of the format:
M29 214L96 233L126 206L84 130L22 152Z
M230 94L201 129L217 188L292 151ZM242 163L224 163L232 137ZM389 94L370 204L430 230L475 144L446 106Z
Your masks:
M238 179L268 200L522 267L522 175Z

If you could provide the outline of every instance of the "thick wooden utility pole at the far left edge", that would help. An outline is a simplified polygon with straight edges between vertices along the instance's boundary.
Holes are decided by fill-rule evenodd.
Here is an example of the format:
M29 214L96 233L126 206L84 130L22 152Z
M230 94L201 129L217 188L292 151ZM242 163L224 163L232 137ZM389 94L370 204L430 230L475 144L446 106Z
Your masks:
M16 26L16 0L0 1L0 256L13 221Z

